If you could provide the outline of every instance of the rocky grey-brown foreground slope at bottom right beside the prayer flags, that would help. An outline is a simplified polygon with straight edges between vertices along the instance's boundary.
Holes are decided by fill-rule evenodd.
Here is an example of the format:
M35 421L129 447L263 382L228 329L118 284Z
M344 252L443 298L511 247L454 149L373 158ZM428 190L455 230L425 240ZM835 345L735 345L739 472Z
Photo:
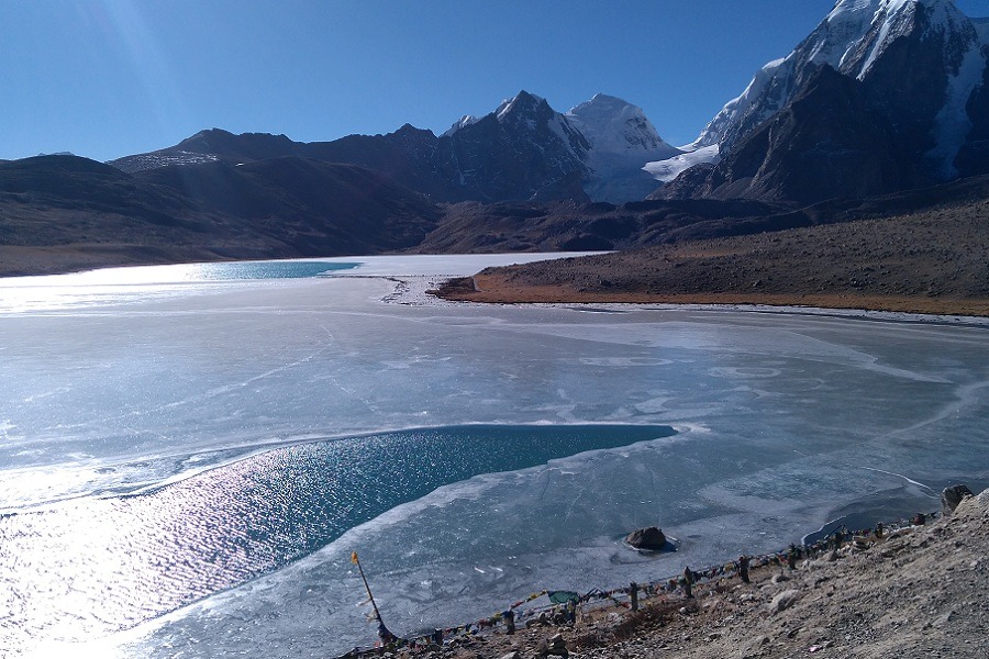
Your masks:
M455 658L989 657L989 490L925 526L643 602L575 625L448 643ZM554 640L555 638L555 640ZM409 650L398 650L401 656ZM422 650L420 650L422 652Z

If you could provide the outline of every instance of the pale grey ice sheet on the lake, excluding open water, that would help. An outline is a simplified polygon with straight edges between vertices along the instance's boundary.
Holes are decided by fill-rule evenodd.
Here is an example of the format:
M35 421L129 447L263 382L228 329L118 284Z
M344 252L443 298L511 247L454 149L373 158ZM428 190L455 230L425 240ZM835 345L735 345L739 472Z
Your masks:
M864 498L927 502L904 477L989 485L985 326L382 302L396 289L386 276L424 290L487 258L381 257L329 278L98 295L62 288L71 303L60 305L37 304L35 290L34 306L0 315L0 506L112 498L265 447L391 428L680 432L448 485L114 640L135 644L121 650L132 656L304 657L373 636L353 605L354 548L389 624L409 632L490 615L533 588L612 587L776 549ZM645 523L680 551L623 548Z

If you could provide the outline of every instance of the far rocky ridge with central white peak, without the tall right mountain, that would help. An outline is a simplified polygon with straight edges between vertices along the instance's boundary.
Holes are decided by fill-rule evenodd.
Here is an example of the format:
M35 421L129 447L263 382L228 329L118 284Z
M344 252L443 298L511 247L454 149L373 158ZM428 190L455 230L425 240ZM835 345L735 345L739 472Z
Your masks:
M680 153L643 111L598 94L566 114L526 91L485 116L464 116L436 136L405 124L387 135L293 142L285 135L202 131L179 144L110 164L127 172L170 165L231 165L301 157L359 165L436 202L610 201L656 188L642 167Z

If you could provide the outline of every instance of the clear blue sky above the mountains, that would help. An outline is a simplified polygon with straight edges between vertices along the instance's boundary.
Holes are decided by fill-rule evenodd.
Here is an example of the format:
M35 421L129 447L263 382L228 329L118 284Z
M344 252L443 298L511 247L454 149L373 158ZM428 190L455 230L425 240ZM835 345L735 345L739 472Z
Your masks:
M692 141L833 0L0 0L0 158L193 133L436 133L525 89L597 92ZM970 15L987 0L958 0Z

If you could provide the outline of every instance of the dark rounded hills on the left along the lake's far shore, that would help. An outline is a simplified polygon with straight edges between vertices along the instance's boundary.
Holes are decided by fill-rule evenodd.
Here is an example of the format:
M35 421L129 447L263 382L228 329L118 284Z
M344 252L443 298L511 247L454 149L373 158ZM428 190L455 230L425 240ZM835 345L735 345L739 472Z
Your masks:
M375 254L418 245L440 215L421 194L352 165L285 157L129 175L44 156L0 164L0 248L41 249L52 263L0 270Z

